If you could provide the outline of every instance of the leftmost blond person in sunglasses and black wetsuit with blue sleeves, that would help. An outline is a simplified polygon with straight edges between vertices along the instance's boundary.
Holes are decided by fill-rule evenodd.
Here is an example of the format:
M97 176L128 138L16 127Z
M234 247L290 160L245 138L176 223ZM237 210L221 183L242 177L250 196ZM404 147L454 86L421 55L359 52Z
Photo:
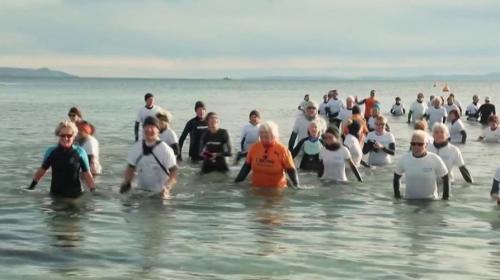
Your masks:
M58 145L47 149L42 166L33 175L28 189L32 190L40 182L49 168L52 168L50 193L54 196L76 198L82 193L80 170L87 187L93 191L94 178L90 173L87 153L80 146L73 145L78 133L76 125L70 121L59 123L55 134L59 137Z

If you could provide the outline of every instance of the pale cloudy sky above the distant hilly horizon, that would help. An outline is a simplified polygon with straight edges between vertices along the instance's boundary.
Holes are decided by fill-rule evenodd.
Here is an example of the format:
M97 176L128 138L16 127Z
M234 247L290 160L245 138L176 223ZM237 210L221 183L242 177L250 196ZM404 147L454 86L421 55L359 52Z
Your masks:
M0 66L87 77L500 72L496 0L2 0Z

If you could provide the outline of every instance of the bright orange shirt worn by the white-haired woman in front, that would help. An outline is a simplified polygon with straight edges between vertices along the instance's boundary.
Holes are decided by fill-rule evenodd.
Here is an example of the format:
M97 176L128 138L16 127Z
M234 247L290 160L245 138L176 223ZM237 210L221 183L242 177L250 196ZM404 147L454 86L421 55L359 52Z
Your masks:
M295 168L292 154L278 142L269 147L261 142L250 146L246 162L252 168L251 181L255 187L286 187L285 171Z

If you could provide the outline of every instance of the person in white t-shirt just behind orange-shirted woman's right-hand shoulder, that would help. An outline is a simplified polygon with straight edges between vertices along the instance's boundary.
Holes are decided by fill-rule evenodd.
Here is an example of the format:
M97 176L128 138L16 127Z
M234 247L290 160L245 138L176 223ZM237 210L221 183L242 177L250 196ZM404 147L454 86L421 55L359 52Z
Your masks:
M318 116L318 105L316 105L313 101L307 102L306 112L295 120L292 134L290 135L290 140L288 141L288 149L290 151L293 151L297 139L300 141L301 139L307 137L307 131L311 122L318 123L318 129L321 134L325 132L326 122L323 118Z

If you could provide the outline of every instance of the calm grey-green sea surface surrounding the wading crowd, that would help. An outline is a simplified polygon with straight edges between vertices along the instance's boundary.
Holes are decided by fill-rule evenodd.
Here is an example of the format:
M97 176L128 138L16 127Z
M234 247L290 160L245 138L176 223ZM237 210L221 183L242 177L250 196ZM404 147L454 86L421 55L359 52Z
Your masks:
M383 111L395 96L409 104L433 81L210 81L141 79L0 79L0 279L498 279L500 208L489 199L500 145L474 141L466 122L460 146L475 183L458 180L449 201L392 198L394 164L361 169L364 183L324 185L301 173L307 189L258 192L230 174L200 176L183 162L172 199L120 195L118 186L143 96L174 115L180 135L194 102L220 115L234 146L252 109L280 126L287 143L296 107L329 89L367 96L377 89ZM500 105L500 82L449 82L464 106L472 94ZM78 201L48 195L50 175L24 190L53 130L71 106L97 127L104 174L98 191ZM389 117L394 162L411 128ZM185 147L188 146L185 144ZM184 149L184 158L187 158ZM232 162L232 160L231 160ZM352 174L351 180L353 179Z

